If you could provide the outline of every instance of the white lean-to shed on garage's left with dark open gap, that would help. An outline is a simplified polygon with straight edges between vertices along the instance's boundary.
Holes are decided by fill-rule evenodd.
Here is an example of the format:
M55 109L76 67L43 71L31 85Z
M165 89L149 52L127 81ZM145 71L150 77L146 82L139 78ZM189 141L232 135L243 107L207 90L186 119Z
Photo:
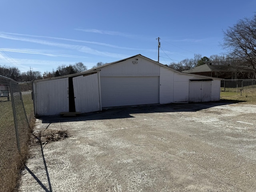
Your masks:
M82 72L33 82L36 116L101 110L100 72Z

